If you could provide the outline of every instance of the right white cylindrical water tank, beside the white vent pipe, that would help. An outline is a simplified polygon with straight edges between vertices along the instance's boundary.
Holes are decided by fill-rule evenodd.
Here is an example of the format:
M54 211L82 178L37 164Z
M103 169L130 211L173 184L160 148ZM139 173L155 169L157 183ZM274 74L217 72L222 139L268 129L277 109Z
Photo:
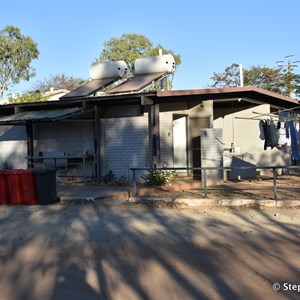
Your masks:
M175 71L175 59L172 54L163 54L138 58L134 63L136 74L150 74Z

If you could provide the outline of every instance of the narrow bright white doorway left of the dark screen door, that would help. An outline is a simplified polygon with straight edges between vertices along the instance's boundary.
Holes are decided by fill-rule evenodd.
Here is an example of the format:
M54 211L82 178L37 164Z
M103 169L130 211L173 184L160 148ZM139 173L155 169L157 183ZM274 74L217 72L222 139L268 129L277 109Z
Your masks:
M187 140L187 116L173 115L173 156L175 168L186 168L188 166ZM177 173L180 176L187 176L187 171Z

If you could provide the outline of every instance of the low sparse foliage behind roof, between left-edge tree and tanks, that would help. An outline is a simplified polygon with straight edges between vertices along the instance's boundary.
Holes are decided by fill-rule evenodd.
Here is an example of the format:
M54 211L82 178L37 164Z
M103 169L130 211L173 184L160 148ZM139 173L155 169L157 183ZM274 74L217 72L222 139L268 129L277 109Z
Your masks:
M51 75L49 79L45 79L43 81L39 80L33 85L32 90L47 92L53 87L55 90L65 89L72 91L86 82L87 80L82 78L66 76L65 74L57 74Z

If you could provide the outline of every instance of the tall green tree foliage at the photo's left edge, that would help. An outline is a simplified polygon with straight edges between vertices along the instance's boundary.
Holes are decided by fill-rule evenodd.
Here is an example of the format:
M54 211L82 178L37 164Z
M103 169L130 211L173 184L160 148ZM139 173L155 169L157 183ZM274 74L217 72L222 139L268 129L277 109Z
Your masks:
M0 99L10 85L35 75L30 64L38 56L37 44L19 28L8 25L0 31Z

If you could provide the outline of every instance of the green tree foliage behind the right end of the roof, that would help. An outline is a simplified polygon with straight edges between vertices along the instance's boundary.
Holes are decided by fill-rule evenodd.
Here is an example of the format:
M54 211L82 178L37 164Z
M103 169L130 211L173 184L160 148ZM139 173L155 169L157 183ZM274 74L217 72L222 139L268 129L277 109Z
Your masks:
M265 90L290 96L293 92L300 96L300 76L290 68L268 68L251 66L243 70L244 85L255 86ZM211 87L240 86L240 70L238 64L227 67L223 73L214 73Z

